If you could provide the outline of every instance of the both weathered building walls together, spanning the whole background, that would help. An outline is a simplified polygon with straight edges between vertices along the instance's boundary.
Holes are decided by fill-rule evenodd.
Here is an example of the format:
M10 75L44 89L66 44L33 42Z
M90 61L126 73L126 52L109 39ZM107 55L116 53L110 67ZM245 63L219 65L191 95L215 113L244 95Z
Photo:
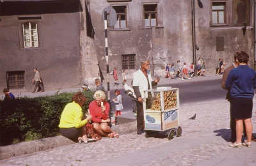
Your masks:
M93 84L99 67L106 75L102 11L117 13L108 28L109 68L127 77L148 59L153 75L167 63L193 62L191 5L188 0L51 0L0 2L0 88L33 89L38 68L45 89ZM214 73L219 58L229 66L244 50L253 68L256 0L195 3L196 59ZM246 26L246 27L245 27ZM98 65L99 64L99 67ZM106 77L105 77L106 78Z

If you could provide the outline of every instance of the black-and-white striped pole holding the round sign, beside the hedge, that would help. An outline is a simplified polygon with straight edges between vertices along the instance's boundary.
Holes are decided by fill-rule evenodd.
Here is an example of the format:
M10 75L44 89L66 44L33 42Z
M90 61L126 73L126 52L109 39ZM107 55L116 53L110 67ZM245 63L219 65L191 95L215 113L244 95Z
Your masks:
M107 11L104 11L104 29L105 29L105 50L106 50L106 64L107 64L107 82L108 82L108 103L109 103L109 110L111 110L111 103L110 103L110 88L109 88L109 65L108 65L108 13ZM109 119L110 123L109 126L111 127L111 112L109 111Z

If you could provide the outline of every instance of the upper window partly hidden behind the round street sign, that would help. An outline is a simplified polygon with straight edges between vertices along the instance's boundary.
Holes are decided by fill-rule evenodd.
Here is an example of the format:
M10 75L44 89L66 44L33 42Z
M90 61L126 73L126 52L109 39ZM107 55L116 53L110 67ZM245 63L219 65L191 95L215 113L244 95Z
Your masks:
M114 28L125 28L127 27L127 11L126 6L113 6L116 10L117 20Z

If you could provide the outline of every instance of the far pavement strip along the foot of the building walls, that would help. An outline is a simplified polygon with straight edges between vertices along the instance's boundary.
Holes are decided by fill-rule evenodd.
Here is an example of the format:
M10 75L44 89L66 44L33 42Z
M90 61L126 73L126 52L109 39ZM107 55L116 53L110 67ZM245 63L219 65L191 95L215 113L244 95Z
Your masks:
M180 78L177 78L175 80L170 80L170 79L166 79L166 78L160 78L160 81L158 83L158 86L163 86L163 85L166 85L166 84L173 84L173 83L180 83L180 82L196 82L196 81L204 81L204 80L215 80L215 79L221 79L222 76L221 75L216 75L216 74L209 74L209 75L205 75L205 77L201 77L201 76L198 76L198 77L194 77L193 79L191 80L181 80ZM154 78L152 78L154 79ZM132 79L127 79L127 84L129 86L131 86L131 81ZM120 83L118 86L114 86L113 83L115 82L115 80L113 79L113 77L111 77L110 75L110 91L113 91L115 89L123 89L123 86L122 86L122 80L118 80L118 82ZM46 83L45 83L46 84ZM108 86L107 86L107 82L106 80L103 81L103 86L105 87L105 91L108 90ZM92 87L92 89L95 89L96 87ZM77 92L77 91L82 91L82 88L81 87L74 87L74 88L69 88L69 89L56 89L56 90L47 90L45 89L45 92L38 92L38 93L31 93L29 91L10 91L11 93L14 94L15 98L17 97L24 97L24 96L28 96L28 97L31 97L31 98L35 98L35 97L38 97L38 96L47 96L47 95L53 95L53 94L56 94L57 92L58 93L64 93L64 92ZM111 94L113 95L113 94ZM1 93L0 94L0 99L4 98L4 93Z

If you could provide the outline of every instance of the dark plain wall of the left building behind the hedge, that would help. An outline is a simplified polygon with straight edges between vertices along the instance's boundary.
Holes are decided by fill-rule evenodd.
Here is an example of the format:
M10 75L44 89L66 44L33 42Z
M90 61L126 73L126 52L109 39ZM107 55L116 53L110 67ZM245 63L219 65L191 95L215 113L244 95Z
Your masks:
M86 31L86 1L0 2L0 88L33 89L38 68L45 89L75 87L97 77ZM81 38L83 36L83 38Z

